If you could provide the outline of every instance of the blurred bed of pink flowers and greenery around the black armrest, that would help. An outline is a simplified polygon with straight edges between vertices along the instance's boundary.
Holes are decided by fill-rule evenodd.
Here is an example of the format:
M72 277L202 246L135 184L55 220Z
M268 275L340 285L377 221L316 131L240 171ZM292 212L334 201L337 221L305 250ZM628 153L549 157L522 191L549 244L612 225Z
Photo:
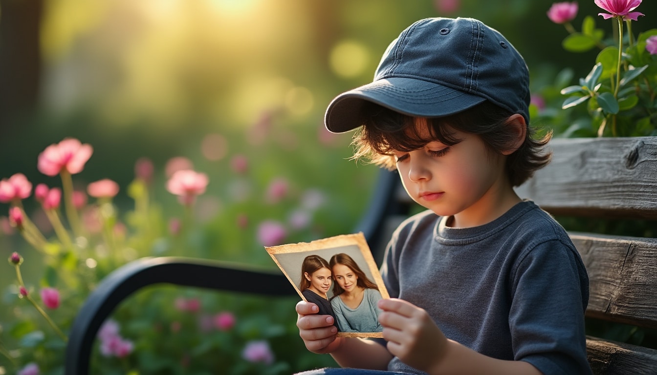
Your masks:
M376 168L344 160L348 139L309 129L315 137L306 134L302 143L275 126L263 121L241 140L204 137L204 160L196 164L205 171L184 156L160 167L136 160L127 186L111 176L85 181L95 150L74 138L38 155L48 183L33 184L43 176L24 173L3 178L0 240L11 250L2 253L9 284L0 286L0 373L62 374L66 334L81 303L133 259L183 255L275 268L263 246L353 231L367 204L358 197L371 188ZM316 157L334 160L335 168L308 170L303 158ZM335 190L321 188L327 186ZM336 198L344 191L353 201ZM131 204L118 204L122 196ZM102 326L91 373L284 374L334 364L305 349L294 325L296 301L147 288Z

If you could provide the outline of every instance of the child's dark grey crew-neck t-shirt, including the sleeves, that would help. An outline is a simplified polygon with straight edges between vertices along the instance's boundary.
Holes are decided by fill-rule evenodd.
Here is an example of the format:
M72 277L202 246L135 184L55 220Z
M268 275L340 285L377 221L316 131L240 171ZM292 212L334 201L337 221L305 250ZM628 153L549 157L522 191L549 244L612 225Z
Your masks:
M590 374L584 311L589 279L568 234L523 201L480 227L424 211L393 234L382 277L390 297L425 309L447 336L543 374ZM423 374L396 357L388 370Z

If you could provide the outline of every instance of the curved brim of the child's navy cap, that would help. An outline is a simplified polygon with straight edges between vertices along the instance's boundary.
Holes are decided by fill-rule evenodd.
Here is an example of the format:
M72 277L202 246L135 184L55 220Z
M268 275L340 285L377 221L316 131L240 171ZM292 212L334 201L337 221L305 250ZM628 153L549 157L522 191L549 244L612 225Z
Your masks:
M440 117L463 112L486 100L439 83L406 77L378 79L338 95L328 104L325 124L344 133L363 124L363 104L373 102L415 117Z

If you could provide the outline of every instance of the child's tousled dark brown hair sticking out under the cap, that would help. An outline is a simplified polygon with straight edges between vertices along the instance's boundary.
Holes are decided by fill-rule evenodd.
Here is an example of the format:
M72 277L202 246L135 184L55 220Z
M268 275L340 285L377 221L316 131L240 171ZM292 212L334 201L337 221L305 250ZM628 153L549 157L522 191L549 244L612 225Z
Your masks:
M352 159L368 162L386 169L396 169L393 150L408 152L417 150L430 141L440 141L447 146L461 142L453 135L453 129L478 135L490 152L501 153L513 141L507 119L513 115L489 101L468 110L440 118L427 118L430 139L422 138L413 117L384 108L372 102L363 106L363 126L353 137L355 152ZM533 139L536 130L528 125L524 143L507 157L505 170L512 186L522 185L534 171L547 165L551 152L543 147L552 138L548 132L542 139Z

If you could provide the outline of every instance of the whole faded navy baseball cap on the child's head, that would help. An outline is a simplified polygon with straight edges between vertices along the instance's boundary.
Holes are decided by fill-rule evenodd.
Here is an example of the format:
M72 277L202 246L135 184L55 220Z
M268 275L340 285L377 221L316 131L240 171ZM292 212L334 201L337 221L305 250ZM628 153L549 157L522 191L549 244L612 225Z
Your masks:
M473 18L425 18L392 41L374 81L338 95L325 124L344 133L363 123L365 101L415 117L463 112L489 100L530 121L524 58L493 28Z

